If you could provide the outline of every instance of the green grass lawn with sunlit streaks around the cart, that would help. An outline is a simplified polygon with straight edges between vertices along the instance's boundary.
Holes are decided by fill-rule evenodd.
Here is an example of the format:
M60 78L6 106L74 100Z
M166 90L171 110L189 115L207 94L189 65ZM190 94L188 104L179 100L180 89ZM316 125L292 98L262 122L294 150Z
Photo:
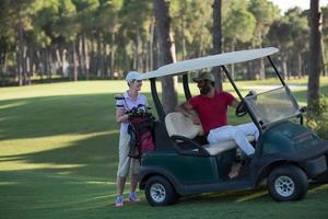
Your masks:
M306 84L306 80L288 83ZM295 203L276 203L262 187L185 197L164 208L150 207L138 192L141 203L115 208L114 94L125 88L122 81L91 81L0 89L1 219L328 218L327 184L312 185L306 198ZM150 100L148 82L143 91ZM321 80L321 92L328 94L327 78ZM306 103L305 90L297 90L295 96ZM236 124L233 113L230 122Z

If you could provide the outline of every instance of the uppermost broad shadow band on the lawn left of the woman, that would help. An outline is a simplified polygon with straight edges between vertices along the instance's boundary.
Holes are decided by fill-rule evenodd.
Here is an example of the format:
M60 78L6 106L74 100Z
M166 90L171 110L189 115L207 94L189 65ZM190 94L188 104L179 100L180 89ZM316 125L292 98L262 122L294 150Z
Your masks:
M113 93L0 101L0 140L91 134L119 127Z

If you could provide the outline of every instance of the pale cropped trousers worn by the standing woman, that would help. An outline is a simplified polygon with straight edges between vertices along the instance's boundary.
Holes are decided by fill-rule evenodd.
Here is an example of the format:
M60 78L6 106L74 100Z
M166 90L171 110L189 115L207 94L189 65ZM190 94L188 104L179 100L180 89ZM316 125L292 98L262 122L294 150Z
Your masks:
M120 134L119 135L119 161L118 161L118 170L117 175L121 177L127 177L129 171L131 174L139 174L140 162L138 159L133 159L129 157L129 134Z

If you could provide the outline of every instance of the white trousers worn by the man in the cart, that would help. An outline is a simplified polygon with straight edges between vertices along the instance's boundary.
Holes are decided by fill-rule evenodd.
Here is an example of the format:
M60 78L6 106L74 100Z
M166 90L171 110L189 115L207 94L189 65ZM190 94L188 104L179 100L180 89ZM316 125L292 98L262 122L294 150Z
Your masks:
M259 131L254 123L214 128L210 130L208 141L210 145L214 145L226 140L234 140L244 153L250 155L255 150L246 139L246 136L254 136L255 140L258 139Z

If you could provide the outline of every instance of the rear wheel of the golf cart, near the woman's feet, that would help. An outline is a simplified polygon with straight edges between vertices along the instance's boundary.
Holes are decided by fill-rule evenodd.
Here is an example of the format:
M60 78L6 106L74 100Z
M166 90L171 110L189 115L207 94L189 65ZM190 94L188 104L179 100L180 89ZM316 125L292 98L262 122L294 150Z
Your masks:
M176 203L178 195L163 176L152 176L145 183L145 198L151 206L166 206Z

